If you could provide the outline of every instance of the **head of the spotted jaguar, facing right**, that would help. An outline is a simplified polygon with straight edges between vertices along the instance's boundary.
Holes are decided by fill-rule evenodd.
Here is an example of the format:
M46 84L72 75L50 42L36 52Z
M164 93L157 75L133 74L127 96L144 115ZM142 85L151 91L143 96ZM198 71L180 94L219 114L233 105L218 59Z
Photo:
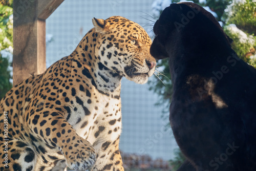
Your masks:
M100 34L99 56L112 72L136 83L146 83L155 71L156 60L150 54L151 38L138 24L120 16L93 18Z

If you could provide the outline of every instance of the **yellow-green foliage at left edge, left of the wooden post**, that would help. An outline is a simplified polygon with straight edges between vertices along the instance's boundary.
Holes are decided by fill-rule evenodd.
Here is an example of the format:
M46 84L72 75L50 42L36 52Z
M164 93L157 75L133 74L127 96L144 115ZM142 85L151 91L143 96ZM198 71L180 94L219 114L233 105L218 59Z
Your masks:
M13 47L13 13L12 1L1 1L0 3L0 51ZM0 54L0 99L11 89L10 63L8 58Z

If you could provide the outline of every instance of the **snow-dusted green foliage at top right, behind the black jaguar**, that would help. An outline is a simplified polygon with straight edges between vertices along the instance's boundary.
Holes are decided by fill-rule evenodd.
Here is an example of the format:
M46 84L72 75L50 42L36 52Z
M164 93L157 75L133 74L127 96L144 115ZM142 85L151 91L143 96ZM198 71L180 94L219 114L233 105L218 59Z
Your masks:
M252 0L244 0L238 4L232 2L227 6L223 18L226 20L224 31L233 39L232 49L241 59L256 68L256 2ZM237 29L232 24L236 25Z

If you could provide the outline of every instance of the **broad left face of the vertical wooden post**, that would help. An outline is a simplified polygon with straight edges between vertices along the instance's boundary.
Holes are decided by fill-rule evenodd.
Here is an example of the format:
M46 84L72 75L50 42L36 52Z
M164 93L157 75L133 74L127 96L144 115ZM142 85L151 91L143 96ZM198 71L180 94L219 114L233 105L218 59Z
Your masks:
M33 3L28 1L27 6L20 2L22 1L13 1L13 86L33 74L39 74L37 72L38 30L35 17L37 1Z

